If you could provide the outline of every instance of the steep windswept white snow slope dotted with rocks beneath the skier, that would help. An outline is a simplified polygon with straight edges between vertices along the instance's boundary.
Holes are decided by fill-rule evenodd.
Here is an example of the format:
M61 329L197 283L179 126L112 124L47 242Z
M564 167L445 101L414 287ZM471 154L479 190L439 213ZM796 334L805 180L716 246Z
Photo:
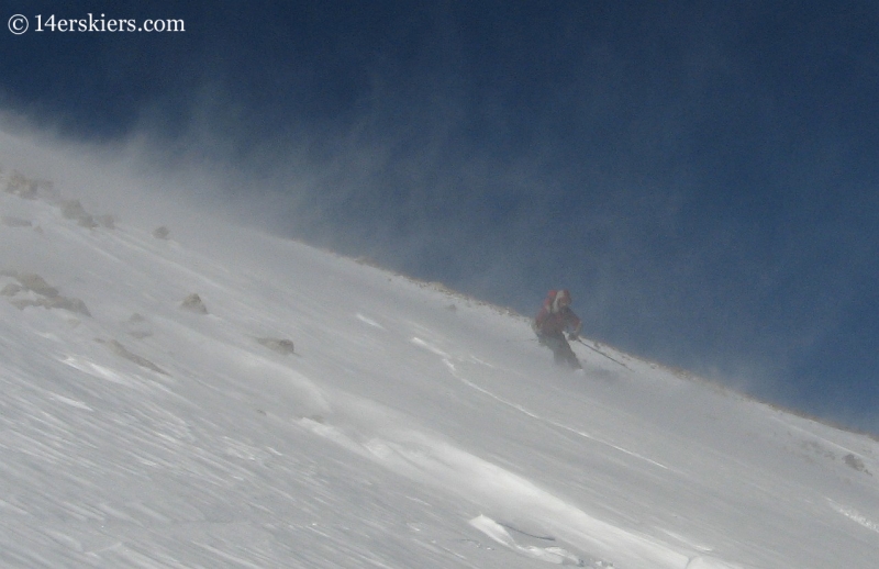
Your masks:
M2 567L876 567L869 437L55 181L0 174Z

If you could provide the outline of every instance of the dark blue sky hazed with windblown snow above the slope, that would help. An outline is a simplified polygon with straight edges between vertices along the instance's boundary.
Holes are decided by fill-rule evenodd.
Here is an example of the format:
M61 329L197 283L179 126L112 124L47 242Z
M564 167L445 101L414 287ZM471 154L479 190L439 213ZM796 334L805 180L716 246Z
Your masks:
M58 5L0 2L31 21L3 109L522 312L569 288L590 337L879 432L875 2ZM89 12L186 32L33 30Z

